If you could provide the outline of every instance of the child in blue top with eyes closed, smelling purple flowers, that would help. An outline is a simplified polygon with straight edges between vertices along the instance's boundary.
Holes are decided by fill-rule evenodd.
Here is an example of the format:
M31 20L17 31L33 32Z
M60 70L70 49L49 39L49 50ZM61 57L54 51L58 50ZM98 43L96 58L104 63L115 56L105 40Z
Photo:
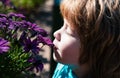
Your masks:
M53 78L120 78L120 0L63 0Z

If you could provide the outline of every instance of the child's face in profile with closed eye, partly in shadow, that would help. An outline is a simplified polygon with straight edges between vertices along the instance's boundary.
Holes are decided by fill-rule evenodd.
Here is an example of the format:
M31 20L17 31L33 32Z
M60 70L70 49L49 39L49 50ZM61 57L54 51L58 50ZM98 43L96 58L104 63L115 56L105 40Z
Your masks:
M54 37L54 60L78 65L80 39L67 20L64 19L64 25L54 33Z

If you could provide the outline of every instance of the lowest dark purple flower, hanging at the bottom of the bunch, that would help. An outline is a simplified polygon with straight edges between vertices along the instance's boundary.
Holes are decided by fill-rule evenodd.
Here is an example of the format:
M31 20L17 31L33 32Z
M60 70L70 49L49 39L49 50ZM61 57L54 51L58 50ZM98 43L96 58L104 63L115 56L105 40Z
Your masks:
M37 72L42 71L43 69L43 64L42 61L36 58L30 58L28 59L29 63L32 63L32 66L29 68L29 70L33 70L34 68L37 70Z

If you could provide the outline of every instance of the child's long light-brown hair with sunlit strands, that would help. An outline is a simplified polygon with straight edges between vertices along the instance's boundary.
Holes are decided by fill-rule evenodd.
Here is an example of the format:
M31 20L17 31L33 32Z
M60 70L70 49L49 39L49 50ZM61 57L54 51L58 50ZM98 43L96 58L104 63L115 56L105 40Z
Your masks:
M95 78L120 78L120 0L63 0L61 13L80 37L80 64Z

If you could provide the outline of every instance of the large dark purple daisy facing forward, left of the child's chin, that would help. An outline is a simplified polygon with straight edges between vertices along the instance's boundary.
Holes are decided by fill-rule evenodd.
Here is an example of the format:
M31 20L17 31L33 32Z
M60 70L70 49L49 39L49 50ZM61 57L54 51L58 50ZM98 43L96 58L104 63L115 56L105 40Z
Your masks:
M23 46L25 52L30 52L32 51L33 53L38 53L40 51L40 48L38 47L39 43L36 39L31 40L30 38L25 39L23 41Z

